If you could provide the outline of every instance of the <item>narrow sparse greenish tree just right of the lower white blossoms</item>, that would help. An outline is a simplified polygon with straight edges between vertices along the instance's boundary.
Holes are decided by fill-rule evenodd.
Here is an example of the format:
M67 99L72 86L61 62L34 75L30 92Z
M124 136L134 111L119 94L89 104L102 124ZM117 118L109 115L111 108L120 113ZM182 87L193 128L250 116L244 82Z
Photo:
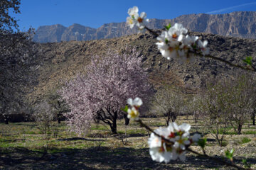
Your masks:
M231 110L228 84L214 79L206 83L201 91L198 111L201 112L202 123L208 132L223 146L225 132L230 123L228 113Z

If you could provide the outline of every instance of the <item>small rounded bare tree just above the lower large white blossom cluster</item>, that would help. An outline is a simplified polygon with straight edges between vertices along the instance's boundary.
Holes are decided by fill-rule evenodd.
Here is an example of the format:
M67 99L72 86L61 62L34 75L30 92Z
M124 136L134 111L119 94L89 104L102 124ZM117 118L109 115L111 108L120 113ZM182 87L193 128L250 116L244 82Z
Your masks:
M153 99L153 110L156 113L165 116L166 125L170 120L174 122L183 106L183 95L177 92L177 89L170 86L164 86L156 92Z

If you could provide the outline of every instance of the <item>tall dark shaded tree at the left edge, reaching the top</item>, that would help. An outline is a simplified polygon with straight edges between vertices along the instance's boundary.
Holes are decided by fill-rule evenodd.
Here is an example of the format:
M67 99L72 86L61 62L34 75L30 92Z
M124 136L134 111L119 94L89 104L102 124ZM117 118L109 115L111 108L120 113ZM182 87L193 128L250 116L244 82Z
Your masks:
M0 114L8 123L14 108L23 107L23 99L36 83L37 45L31 42L31 30L21 33L9 11L20 13L20 1L0 1ZM11 111L12 110L12 111Z

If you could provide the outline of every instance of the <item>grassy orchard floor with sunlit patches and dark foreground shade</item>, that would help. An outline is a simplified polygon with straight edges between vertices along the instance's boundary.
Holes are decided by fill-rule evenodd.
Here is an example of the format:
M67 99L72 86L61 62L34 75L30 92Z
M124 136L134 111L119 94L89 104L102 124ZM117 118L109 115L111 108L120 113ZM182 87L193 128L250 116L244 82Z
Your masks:
M164 118L142 118L156 129L165 126ZM202 120L201 120L202 121ZM192 117L179 116L178 124L190 123L191 133L196 132ZM48 134L43 135L37 123L0 124L0 169L228 169L216 162L187 154L186 162L168 164L151 160L147 145L148 132L136 122L127 126L125 139L124 120L119 120L117 135L103 124L93 124L85 136L68 132L65 123L52 123ZM235 163L247 159L256 169L256 126L246 123L242 135L235 135L231 127L225 135L224 147L198 124L198 132L207 138L206 152L224 157L225 150L235 149ZM198 146L192 146L198 152Z

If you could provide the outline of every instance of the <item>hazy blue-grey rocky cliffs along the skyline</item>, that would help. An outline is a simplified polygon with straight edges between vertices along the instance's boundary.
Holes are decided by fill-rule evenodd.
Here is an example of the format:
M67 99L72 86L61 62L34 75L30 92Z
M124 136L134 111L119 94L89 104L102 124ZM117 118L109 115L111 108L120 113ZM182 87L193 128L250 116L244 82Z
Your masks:
M239 38L256 38L256 11L233 12L210 15L205 13L178 16L174 19L150 19L149 28L161 29L168 23L182 23L191 31L212 33ZM90 28L73 24L66 28L60 24L41 26L36 30L33 40L36 42L60 42L70 40L100 40L117 38L137 33L126 23L107 23L100 28Z

